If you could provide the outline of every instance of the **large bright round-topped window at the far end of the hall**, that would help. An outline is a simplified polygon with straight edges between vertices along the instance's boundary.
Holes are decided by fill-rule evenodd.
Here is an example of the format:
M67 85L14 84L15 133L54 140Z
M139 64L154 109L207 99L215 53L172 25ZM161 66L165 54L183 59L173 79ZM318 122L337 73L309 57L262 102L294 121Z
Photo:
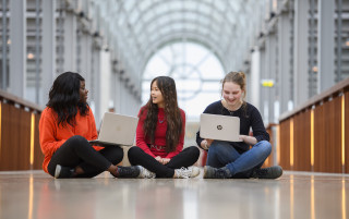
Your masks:
M148 61L143 75L142 105L151 96L151 82L169 75L176 81L179 107L191 121L197 121L204 106L220 98L225 72L216 56L193 42L173 42L161 48Z

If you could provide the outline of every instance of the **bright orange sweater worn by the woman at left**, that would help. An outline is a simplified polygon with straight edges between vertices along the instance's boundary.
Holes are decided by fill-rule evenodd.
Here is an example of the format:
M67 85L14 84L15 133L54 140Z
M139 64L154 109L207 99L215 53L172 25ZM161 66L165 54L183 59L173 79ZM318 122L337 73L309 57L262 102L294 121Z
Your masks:
M94 114L89 108L86 115L82 117L77 111L75 117L76 125L71 126L69 124L63 127L61 124L58 126L57 113L51 108L45 108L41 113L39 122L39 137L40 147L45 155L43 169L48 172L47 166L51 160L56 150L70 137L74 135L81 135L87 141L97 138L97 130ZM96 150L103 149L103 147L94 146Z

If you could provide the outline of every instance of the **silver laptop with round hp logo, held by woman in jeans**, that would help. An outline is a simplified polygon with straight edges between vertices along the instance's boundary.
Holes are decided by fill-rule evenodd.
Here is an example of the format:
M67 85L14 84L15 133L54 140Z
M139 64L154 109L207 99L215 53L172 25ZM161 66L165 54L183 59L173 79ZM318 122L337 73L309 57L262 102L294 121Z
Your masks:
M202 113L200 117L200 136L208 139L242 142L240 118L221 114Z

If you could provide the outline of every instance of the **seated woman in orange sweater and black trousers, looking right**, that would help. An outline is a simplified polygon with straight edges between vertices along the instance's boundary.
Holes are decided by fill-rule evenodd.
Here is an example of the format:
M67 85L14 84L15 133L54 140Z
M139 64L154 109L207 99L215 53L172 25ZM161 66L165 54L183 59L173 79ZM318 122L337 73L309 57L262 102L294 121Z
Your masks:
M89 145L97 131L87 93L77 73L65 72L55 80L39 122L44 171L55 178L93 178L106 170L117 178L137 177L137 167L116 166L123 157L120 147Z

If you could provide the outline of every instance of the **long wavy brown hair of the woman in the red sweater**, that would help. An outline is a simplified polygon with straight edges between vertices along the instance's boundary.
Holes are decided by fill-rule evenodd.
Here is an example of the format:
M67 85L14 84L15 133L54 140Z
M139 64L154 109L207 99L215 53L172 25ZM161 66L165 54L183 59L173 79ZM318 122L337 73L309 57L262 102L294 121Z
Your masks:
M169 76L158 76L152 81L151 90L153 83L157 83L157 87L160 89L165 100L165 119L167 121L166 131L166 151L174 151L179 142L180 135L182 134L182 117L181 111L178 108L177 102L177 90L174 80ZM141 110L140 117L142 117L144 110L147 110L147 114L143 124L145 136L154 143L155 129L157 124L158 107L153 104L152 96L148 102Z

